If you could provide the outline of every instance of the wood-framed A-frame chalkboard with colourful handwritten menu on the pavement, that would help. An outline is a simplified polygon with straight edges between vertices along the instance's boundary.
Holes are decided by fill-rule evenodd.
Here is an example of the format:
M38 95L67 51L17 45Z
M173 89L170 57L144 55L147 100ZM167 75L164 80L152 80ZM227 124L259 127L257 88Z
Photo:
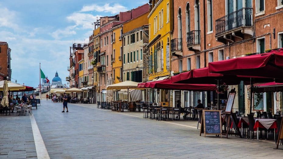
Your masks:
M222 137L220 110L203 110L201 119L201 133L204 133L204 137L206 134L221 135Z

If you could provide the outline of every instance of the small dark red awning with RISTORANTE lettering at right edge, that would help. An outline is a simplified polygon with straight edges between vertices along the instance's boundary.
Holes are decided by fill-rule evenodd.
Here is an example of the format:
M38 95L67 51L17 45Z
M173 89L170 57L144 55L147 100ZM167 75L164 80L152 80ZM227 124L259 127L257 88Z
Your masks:
M283 83L264 83L257 85L258 92L282 92L283 91Z

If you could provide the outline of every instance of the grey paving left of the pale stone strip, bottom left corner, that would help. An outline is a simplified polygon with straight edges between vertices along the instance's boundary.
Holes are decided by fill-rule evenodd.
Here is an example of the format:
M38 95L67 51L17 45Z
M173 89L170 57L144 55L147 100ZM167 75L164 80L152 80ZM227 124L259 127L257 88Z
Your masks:
M37 158L30 117L0 116L0 158Z

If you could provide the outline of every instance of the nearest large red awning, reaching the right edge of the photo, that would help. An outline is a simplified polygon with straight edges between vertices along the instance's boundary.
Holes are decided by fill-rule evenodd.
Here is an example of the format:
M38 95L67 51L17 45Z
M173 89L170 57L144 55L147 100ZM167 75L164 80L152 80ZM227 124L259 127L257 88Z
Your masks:
M283 49L208 63L209 72L283 79Z

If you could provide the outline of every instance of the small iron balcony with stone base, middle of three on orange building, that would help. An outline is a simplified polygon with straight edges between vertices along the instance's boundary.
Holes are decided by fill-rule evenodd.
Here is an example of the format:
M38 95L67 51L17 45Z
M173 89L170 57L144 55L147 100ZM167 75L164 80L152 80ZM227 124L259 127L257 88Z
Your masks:
M189 50L201 50L201 31L192 30L187 32L187 47Z

